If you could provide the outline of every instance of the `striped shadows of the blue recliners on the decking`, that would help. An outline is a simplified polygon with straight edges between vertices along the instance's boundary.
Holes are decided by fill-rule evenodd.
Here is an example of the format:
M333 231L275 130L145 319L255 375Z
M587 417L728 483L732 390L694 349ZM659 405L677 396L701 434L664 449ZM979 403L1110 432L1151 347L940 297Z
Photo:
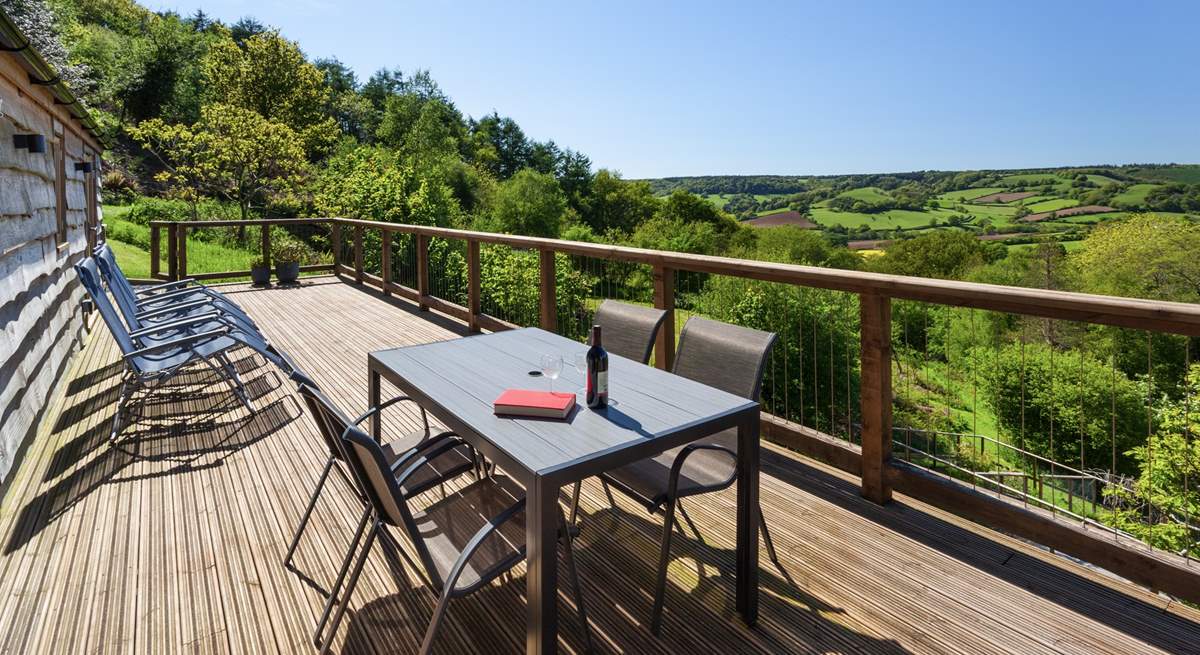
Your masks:
M245 367L246 361L252 360L241 357L238 363ZM119 386L116 379L110 375L107 379L110 386ZM229 455L265 439L300 416L300 405L290 395L250 414L228 387L214 384L216 381L211 372L196 371L167 386L143 392L140 408L126 420L115 443L109 441L116 410L115 389L106 389L65 410L55 425L55 433L100 410L104 402L108 415L55 451L43 481L56 482L22 507L4 553L22 548L104 485L220 467ZM251 398L262 398L281 384L281 378L265 368L246 380ZM138 465L136 471L130 470L143 463L145 465Z

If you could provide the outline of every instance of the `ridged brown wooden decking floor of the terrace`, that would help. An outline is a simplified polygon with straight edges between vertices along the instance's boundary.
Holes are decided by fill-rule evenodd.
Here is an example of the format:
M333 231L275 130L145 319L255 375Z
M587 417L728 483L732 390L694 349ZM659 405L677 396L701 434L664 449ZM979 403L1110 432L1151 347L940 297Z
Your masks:
M463 326L335 278L230 289L348 411L366 353ZM116 445L120 366L97 328L0 503L0 653L305 653L358 513L332 481L296 557L281 560L324 462L276 371L246 357L258 411L204 374L149 398ZM410 423L413 415L392 416ZM397 426L392 426L397 427ZM779 449L764 515L782 569L762 559L760 625L736 618L732 491L686 504L661 638L646 626L660 519L586 487L578 559L605 653L1200 653L1200 612ZM520 573L518 569L518 573ZM565 571L560 573L565 578ZM524 579L451 605L440 653L521 653ZM346 653L412 653L433 608L412 570L377 551L337 637ZM580 651L560 595L562 650Z

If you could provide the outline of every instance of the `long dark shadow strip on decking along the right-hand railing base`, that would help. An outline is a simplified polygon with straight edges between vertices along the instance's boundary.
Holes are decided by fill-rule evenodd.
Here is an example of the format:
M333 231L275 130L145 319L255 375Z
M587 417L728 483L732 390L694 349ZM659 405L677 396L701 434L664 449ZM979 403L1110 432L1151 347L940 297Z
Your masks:
M1157 648L1194 653L1200 644L1200 624L1195 621L1093 582L1068 566L1008 548L902 500L893 500L887 506L875 505L862 498L857 485L767 450L762 452L762 470L803 493Z

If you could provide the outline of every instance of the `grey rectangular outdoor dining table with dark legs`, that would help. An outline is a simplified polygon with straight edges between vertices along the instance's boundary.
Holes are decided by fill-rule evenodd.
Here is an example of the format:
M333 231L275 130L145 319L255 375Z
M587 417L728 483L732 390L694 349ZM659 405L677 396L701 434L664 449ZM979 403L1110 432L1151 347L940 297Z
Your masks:
M382 380L420 403L526 489L529 655L558 645L557 558L560 491L577 481L737 428L736 608L758 614L758 403L617 355L608 355L610 403L583 398L565 419L497 415L509 389L575 392L584 375L570 362L588 345L538 328L472 335L367 355L372 407ZM568 362L558 380L540 374L542 355ZM379 438L379 414L371 421ZM584 525L586 528L586 525ZM652 581L647 581L649 584Z

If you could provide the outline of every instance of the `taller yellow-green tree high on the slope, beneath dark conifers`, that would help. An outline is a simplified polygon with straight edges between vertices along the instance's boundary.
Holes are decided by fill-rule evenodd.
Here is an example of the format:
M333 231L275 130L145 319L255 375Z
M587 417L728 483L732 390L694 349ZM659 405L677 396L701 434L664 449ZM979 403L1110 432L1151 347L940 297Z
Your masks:
M325 76L277 31L250 36L241 47L233 40L217 41L209 48L203 70L211 102L287 125L310 157L319 157L332 144L337 127L325 114Z

